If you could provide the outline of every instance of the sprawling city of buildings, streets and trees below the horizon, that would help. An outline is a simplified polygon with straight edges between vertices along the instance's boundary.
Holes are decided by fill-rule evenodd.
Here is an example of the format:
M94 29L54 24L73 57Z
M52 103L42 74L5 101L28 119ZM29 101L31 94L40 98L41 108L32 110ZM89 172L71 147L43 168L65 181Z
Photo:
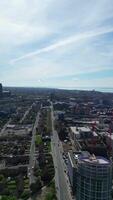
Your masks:
M112 200L113 94L0 84L0 195Z

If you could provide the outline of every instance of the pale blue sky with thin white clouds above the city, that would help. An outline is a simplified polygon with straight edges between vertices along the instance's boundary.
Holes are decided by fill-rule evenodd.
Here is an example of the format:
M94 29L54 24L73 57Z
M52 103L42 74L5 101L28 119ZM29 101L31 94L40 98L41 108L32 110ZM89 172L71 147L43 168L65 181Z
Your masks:
M0 0L0 82L113 87L113 0Z

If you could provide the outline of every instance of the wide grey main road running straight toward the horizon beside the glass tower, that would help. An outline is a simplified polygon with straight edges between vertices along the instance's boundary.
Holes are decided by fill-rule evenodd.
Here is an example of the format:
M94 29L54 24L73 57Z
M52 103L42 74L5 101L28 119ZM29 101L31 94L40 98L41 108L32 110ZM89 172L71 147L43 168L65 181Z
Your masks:
M62 153L60 151L60 141L58 134L54 129L54 114L53 106L51 103L51 118L52 118L52 137L51 137L51 147L52 155L55 166L55 185L57 190L58 200L72 200L72 196L68 187L67 178L65 175L65 168L62 159Z

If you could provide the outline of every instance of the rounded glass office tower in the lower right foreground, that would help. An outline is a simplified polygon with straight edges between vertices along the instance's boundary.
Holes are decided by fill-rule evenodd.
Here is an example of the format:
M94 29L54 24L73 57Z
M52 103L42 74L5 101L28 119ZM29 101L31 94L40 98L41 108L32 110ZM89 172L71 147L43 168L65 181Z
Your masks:
M76 200L111 200L112 165L103 157L78 161Z

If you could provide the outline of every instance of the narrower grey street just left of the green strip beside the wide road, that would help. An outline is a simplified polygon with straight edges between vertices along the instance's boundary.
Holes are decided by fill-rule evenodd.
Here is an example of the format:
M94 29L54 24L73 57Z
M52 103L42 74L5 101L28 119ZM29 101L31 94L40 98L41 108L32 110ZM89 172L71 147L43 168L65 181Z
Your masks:
M38 122L39 122L39 115L40 115L40 112L38 112L38 114L37 114L36 121L35 121L33 131L32 131L30 158L29 158L29 166L28 166L28 176L29 176L29 184L30 185L35 182L35 177L34 177L34 173L33 173L34 165L35 165L35 136L36 136L36 128L37 128Z

